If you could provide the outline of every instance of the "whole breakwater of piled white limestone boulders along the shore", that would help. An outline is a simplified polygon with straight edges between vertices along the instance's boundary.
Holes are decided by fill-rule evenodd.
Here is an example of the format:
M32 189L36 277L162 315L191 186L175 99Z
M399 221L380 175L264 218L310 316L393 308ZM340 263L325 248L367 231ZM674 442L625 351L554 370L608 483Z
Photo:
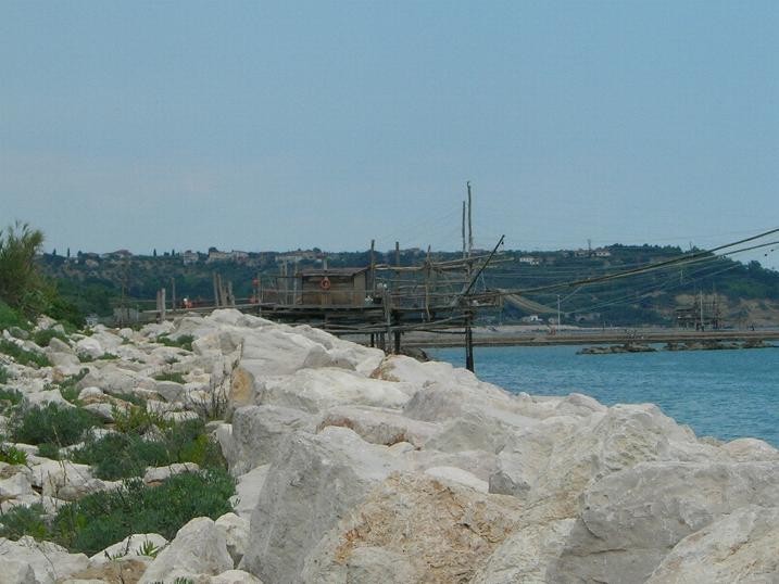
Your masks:
M7 363L9 383L41 401L51 379L87 367L79 390L95 404L134 394L168 419L221 418L206 428L236 482L233 511L91 558L2 539L3 582L120 582L122 570L149 583L779 581L779 452L764 442L698 439L652 405L512 395L447 364L234 310L89 340L54 343L54 367ZM79 343L117 358L66 357ZM165 368L181 379L154 379ZM67 453L47 462L14 447L30 454L0 469L3 509L53 509L63 486L74 500L120 488L88 479L89 466L36 487L36 469L64 467ZM167 465L145 480L177 472L199 471Z

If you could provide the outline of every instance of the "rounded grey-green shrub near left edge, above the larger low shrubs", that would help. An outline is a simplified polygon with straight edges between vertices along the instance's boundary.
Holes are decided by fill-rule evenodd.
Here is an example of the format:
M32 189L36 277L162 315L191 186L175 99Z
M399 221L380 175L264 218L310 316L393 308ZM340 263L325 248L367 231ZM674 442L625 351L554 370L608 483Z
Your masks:
M47 404L17 411L10 427L15 442L70 446L79 442L89 428L100 424L100 419L85 409Z

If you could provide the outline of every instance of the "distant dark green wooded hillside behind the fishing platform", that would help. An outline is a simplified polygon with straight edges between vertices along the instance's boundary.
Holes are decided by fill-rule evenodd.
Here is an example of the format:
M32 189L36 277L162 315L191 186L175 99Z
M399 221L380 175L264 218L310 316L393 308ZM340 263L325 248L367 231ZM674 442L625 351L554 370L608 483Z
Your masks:
M204 302L213 297L213 275L230 280L237 297L248 297L252 280L265 284L279 274L279 263L287 259L299 268L321 267L326 255L328 266L367 266L368 252L322 254L319 250L262 253L186 252L158 256L78 253L73 257L43 255L43 270L53 277L60 292L85 314L112 314L121 299L131 303L153 302L156 291L175 280L178 299L188 296ZM435 253L430 259L447 261L461 253ZM747 265L727 257L703 255L695 262L673 265L624 279L562 285L579 280L594 280L606 275L682 258L679 247L654 245L611 245L598 250L524 252L506 251L501 262L487 269L479 285L522 291L537 303L555 309L557 299L563 322L585 326L674 325L676 310L694 308L701 303L705 318L718 315L724 326L769 326L779 323L779 272L764 269L757 262ZM400 265L422 264L422 250L403 250ZM395 264L394 252L377 253L377 263ZM150 306L147 306L150 307ZM518 321L532 315L506 304L501 314L488 320ZM538 315L549 318L550 315Z

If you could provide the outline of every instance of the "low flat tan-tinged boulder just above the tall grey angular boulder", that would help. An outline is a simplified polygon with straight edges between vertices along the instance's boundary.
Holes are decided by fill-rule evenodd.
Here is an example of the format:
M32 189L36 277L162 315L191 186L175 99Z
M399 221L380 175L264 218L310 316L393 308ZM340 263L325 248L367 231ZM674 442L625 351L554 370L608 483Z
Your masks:
M327 409L317 430L341 426L354 430L365 442L392 446L409 442L422 447L439 431L431 422L406 418L397 410L369 406L336 406Z

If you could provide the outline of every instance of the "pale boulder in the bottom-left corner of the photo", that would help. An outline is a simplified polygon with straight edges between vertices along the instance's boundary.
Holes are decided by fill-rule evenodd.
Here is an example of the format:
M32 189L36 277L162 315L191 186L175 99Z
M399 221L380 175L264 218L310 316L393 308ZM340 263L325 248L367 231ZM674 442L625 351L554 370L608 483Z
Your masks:
M55 584L88 564L89 559L84 554L70 554L50 542L36 542L28 535L17 542L0 537L3 584Z

